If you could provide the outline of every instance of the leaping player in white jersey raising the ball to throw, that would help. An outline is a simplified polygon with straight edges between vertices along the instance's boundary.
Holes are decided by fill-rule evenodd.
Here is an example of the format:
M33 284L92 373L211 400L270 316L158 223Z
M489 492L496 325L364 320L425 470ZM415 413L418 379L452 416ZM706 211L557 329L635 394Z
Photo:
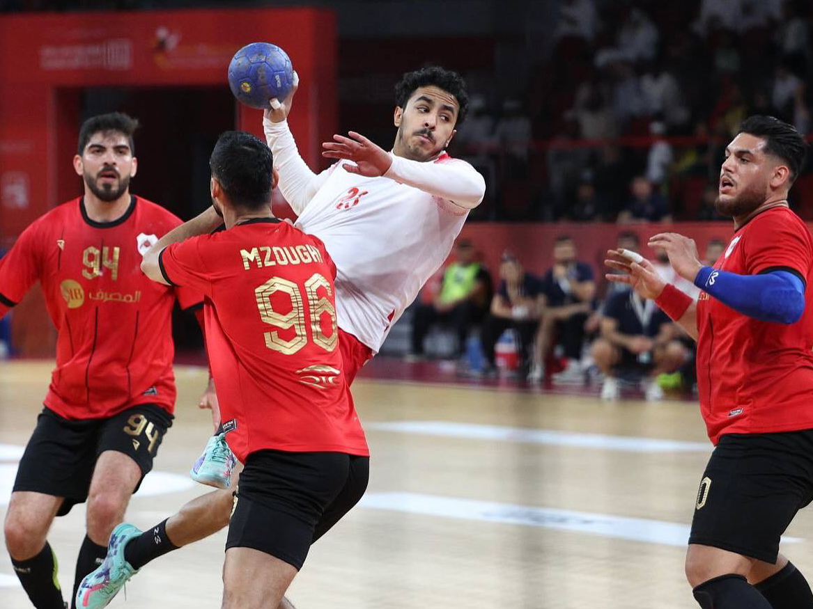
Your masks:
M398 131L393 148L387 152L356 132L333 136L333 142L323 145L323 155L337 162L319 174L299 156L287 123L297 84L294 76L289 97L272 100L263 131L279 188L298 215L296 226L322 240L337 266L339 348L350 383L448 257L468 212L483 200L485 180L467 162L446 153L468 109L465 83L454 71L424 67L406 73L395 88L393 123ZM212 408L217 425L216 398L202 407ZM225 487L234 458L222 428L219 432L193 466L192 476ZM150 543L111 549L108 557L114 552L120 556L130 575L89 592L83 582L89 609L104 607L150 560L228 525L232 503L231 490L215 490L164 520L159 527L166 534L160 543L153 534L159 527L154 527L142 535ZM283 598L280 607L291 606Z

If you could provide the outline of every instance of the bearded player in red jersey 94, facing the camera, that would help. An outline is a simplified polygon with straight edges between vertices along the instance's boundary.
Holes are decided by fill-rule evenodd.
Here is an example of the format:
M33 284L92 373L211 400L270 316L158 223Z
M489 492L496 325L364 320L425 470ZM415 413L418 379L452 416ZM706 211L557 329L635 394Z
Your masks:
M37 609L63 609L46 541L54 516L87 501L74 591L107 554L172 425L172 306L202 309L199 292L158 285L139 268L180 219L130 194L137 125L120 113L85 121L73 159L84 196L38 218L0 260L0 317L39 281L59 332L5 523L11 562Z

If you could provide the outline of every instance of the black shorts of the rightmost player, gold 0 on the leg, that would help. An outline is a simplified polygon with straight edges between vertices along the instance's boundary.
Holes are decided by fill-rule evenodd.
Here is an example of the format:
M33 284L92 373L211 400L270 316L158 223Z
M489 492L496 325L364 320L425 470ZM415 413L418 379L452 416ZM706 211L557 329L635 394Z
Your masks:
M776 564L779 540L813 499L813 430L726 434L703 473L689 543Z

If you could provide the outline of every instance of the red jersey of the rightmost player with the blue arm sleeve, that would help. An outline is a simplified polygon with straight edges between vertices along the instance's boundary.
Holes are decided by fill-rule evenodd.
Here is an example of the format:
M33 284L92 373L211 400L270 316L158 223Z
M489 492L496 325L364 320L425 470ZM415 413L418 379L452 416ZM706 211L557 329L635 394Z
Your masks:
M810 231L787 207L767 209L734 234L715 268L793 273L806 285L806 304L796 323L760 322L701 292L698 392L709 438L813 429Z

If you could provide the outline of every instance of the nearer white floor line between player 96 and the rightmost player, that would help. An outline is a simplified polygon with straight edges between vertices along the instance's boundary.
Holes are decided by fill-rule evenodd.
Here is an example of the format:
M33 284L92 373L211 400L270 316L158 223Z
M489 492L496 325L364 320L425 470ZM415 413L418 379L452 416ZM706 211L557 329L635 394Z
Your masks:
M685 546L689 540L689 525L679 522L539 508L515 503L495 503L420 493L367 493L359 505L363 508L426 516L576 531L667 546ZM802 538L782 538L784 543L802 541Z

